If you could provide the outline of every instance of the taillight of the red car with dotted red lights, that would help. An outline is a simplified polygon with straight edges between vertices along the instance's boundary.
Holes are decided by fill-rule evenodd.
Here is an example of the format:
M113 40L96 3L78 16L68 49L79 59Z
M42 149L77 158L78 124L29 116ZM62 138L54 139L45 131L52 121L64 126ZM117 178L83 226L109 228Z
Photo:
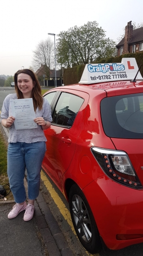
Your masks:
M133 189L143 189L128 155L124 151L92 147L99 166L112 180Z

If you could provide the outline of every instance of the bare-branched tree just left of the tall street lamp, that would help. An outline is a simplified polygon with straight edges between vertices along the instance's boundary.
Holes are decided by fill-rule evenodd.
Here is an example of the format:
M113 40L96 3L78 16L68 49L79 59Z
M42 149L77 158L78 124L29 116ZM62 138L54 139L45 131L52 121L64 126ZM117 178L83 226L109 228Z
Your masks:
M54 63L54 43L48 38L47 40L42 40L33 51L34 57L32 61L32 67L35 71L41 65L43 66L43 71L47 79L50 78L50 67Z

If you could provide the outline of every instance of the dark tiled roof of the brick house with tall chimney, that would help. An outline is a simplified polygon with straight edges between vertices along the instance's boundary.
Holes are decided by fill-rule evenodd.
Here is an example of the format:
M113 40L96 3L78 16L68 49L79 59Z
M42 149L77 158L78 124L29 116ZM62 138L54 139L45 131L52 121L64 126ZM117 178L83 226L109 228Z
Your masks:
M143 41L143 27L139 27L133 30L132 38L130 41L128 41L128 44L133 44L137 42ZM124 45L124 38L118 43L118 46Z

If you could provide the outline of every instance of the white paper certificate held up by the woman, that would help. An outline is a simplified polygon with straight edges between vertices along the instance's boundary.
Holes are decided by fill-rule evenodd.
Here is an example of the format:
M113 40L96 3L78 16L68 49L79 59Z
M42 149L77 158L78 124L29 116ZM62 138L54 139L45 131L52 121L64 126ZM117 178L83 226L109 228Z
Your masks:
M11 108L16 130L37 128L32 98L11 100Z

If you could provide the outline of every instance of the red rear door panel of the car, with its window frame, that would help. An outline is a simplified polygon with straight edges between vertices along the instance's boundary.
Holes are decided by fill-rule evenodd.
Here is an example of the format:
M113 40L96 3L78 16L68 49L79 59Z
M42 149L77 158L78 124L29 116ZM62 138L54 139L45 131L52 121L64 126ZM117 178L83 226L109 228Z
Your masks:
M82 129L89 99L87 93L83 92L80 96L84 96L85 101L70 129L52 124L49 129L44 131L47 138L47 151L44 156L44 166L45 169L48 169L50 177L58 184L61 190L63 190L62 176L68 169L75 153L75 143ZM77 123L78 120L80 120L80 123Z

